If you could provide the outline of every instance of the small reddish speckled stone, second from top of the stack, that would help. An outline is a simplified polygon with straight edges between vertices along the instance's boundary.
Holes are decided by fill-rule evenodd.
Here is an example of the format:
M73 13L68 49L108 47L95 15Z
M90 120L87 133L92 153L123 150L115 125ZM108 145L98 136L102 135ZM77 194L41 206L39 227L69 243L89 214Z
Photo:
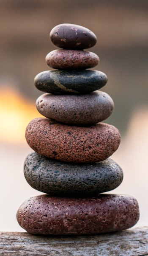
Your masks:
M47 54L46 63L55 69L93 68L99 64L99 57L90 51L54 50Z

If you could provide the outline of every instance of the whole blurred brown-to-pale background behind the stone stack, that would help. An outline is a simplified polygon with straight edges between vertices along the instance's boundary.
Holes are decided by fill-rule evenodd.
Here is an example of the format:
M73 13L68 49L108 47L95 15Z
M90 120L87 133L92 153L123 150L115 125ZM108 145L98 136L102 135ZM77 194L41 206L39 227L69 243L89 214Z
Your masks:
M24 231L16 211L27 198L41 194L23 174L32 150L25 128L40 116L35 102L42 92L33 80L49 70L45 56L56 49L49 32L60 23L85 26L97 36L89 49L100 58L94 69L107 74L102 91L115 103L106 122L122 138L111 158L124 179L110 193L136 197L137 226L148 225L148 1L0 0L0 231Z

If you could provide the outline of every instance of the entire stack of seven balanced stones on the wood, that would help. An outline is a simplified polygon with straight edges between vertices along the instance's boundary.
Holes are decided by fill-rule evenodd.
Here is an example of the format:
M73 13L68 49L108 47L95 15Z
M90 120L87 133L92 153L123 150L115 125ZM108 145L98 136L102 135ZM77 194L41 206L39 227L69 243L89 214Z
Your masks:
M113 109L99 91L107 76L90 70L99 57L84 49L96 44L92 31L60 24L50 32L59 48L46 56L48 70L35 77L45 92L36 107L45 117L33 119L26 140L35 151L24 164L27 182L46 194L26 200L17 212L28 233L69 235L121 231L139 219L137 200L129 195L100 194L119 186L120 166L109 157L118 149L117 128L101 123Z

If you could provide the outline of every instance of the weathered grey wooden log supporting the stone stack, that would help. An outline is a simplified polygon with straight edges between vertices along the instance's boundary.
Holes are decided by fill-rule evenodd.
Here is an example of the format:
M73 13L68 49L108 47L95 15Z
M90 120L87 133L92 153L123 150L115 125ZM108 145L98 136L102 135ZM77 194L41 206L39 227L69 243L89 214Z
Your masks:
M0 256L148 256L148 227L91 236L0 232Z

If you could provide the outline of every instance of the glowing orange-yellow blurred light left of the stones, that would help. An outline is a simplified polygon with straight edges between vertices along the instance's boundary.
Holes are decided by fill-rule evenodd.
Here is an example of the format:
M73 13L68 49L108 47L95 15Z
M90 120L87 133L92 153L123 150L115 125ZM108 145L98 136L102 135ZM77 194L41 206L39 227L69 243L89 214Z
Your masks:
M41 116L36 104L10 87L0 89L0 141L24 143L29 122Z

